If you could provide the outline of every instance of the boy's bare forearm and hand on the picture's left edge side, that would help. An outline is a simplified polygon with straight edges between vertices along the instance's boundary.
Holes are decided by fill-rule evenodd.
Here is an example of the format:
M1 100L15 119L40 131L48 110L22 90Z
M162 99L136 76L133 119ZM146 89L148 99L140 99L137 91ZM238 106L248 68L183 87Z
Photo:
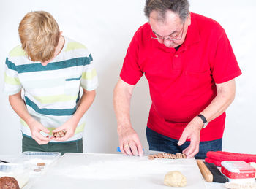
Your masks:
M42 126L37 120L35 120L31 115L29 115L28 109L26 108L26 104L24 103L23 99L21 98L21 90L19 93L10 95L9 101L12 106L12 109L18 114L18 116L23 119L29 126L31 131L32 138L37 141L38 144L47 144L50 139L42 136L40 131L45 133L49 133L47 128Z

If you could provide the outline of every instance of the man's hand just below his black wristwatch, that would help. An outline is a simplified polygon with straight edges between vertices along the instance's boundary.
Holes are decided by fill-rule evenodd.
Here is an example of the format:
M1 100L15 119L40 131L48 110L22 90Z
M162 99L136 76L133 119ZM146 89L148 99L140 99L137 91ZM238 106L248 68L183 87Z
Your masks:
M178 145L181 146L186 142L186 139L190 139L189 147L182 152L187 155L187 158L192 158L199 152L200 130L202 127L203 121L200 117L195 117L184 129L181 138L178 140Z

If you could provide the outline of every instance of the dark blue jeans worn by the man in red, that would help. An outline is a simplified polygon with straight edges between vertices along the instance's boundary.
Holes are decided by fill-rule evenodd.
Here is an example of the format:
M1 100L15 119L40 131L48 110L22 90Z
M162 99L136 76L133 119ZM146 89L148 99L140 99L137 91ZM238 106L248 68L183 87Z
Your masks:
M165 153L182 153L187 148L190 142L185 142L183 145L178 146L178 140L169 138L156 131L146 128L146 136L148 140L149 150L161 151ZM204 141L199 144L199 153L195 155L196 159L205 159L208 151L221 151L222 139Z

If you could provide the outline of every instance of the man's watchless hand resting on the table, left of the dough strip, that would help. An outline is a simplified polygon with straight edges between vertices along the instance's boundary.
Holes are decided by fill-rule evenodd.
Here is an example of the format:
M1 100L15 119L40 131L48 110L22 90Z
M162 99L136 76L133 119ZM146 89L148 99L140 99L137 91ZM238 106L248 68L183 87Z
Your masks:
M121 153L126 155L143 155L143 149L138 134L133 128L123 128L118 131Z

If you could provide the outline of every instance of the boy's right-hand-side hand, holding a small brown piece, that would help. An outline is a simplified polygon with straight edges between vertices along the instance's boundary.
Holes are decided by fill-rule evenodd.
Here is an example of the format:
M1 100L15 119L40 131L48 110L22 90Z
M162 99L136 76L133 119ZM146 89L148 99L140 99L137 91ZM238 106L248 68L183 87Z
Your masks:
M52 137L51 139L54 141L67 141L70 137L74 136L75 128L77 127L77 123L71 119L67 120L62 126L53 130L53 133L57 133L59 131L65 131L65 135L63 137Z

